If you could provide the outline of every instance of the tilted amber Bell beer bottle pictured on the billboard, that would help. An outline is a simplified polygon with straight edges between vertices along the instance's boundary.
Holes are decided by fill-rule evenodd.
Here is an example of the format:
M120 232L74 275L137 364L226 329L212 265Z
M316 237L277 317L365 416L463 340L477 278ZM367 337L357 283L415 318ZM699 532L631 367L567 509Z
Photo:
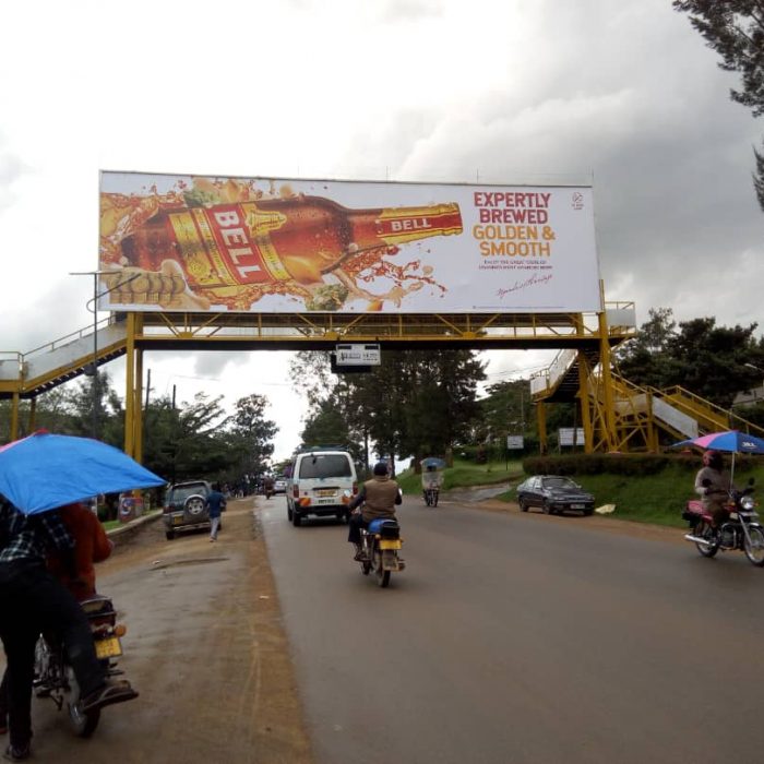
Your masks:
M189 286L226 290L315 284L361 252L462 232L457 204L348 210L321 196L162 212L121 243L124 261L158 271L178 262Z

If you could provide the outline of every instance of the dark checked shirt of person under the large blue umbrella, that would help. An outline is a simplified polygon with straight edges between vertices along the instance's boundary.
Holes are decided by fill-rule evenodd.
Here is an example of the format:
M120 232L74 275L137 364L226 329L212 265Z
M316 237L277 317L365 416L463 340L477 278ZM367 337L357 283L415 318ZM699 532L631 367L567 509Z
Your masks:
M57 510L25 515L13 504L0 502L0 564L17 560L45 563L49 551L68 551L74 539Z

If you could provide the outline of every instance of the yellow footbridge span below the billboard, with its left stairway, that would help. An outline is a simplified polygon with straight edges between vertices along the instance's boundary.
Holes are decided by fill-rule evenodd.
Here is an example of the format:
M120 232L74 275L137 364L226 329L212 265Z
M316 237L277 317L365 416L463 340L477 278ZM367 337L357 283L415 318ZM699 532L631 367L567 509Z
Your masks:
M124 451L142 451L141 392L147 350L333 350L337 343L383 349L560 349L588 365L609 366L610 348L635 333L631 302L607 302L596 313L115 313L94 329L29 353L0 353L0 399L12 401L11 438L20 402L126 356ZM33 423L31 421L29 429Z

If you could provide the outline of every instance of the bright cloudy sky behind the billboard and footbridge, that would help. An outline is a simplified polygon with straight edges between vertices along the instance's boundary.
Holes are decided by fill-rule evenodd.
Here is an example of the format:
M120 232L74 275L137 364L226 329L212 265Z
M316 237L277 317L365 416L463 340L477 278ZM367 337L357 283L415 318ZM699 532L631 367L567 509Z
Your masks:
M764 325L764 121L670 0L35 0L3 7L0 351L92 324L99 170L592 183L608 301ZM760 327L761 333L761 327ZM548 363L485 354L488 382ZM271 402L289 354L147 354L156 394ZM123 389L123 366L106 367Z

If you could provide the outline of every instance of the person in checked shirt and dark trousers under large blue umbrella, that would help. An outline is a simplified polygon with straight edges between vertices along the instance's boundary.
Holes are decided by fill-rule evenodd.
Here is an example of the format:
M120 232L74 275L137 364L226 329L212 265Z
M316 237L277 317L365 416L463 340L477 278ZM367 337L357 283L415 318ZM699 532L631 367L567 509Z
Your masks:
M138 697L129 682L106 678L82 608L47 568L48 553L57 552L76 577L73 551L57 510L27 515L0 496L0 638L8 662L10 731L3 755L10 761L29 756L34 653L41 632L61 636L83 712Z

